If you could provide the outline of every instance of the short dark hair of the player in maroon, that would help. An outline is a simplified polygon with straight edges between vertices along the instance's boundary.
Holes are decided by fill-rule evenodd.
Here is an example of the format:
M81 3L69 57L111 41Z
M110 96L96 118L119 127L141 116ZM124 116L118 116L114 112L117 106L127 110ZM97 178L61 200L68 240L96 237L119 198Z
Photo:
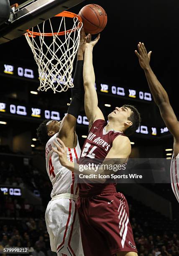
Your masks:
M132 105L123 105L123 107L130 108L132 110L128 120L130 120L133 124L124 131L124 134L126 136L129 136L132 133L134 133L138 129L139 125L141 124L141 115L138 112L138 110Z

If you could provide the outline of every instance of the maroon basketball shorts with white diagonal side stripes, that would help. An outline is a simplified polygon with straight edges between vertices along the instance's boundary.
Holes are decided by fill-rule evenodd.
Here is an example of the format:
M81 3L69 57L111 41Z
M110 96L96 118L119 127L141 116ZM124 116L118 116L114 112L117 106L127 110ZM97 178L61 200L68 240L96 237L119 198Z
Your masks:
M114 189L77 200L84 256L137 252L129 223L128 203Z

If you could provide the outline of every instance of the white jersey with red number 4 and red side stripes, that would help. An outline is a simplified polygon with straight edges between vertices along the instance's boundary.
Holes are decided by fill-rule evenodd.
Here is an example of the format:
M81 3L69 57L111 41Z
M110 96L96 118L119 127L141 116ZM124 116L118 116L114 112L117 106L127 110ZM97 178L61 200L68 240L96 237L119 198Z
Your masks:
M54 141L59 144L56 139L58 133L54 134L46 143L46 170L53 185L51 197L58 194L70 193L77 195L77 175L66 169L60 164L59 155L52 150ZM81 154L81 149L77 139L76 148L66 148L67 159L76 162Z

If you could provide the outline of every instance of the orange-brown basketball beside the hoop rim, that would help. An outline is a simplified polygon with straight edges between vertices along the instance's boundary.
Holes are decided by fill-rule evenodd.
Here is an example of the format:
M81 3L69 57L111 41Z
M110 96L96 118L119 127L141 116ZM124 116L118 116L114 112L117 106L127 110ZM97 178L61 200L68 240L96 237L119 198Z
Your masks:
M105 28L107 23L107 14L100 5L85 5L79 11L79 16L83 20L83 28L85 33L100 33Z

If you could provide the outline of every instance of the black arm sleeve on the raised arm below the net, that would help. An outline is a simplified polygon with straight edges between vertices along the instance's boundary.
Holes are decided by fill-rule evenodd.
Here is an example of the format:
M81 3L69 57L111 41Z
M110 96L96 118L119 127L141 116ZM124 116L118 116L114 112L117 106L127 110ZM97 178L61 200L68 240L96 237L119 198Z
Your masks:
M79 60L76 63L73 84L72 101L69 105L67 113L73 115L75 118L78 118L82 102L84 101L83 60Z

